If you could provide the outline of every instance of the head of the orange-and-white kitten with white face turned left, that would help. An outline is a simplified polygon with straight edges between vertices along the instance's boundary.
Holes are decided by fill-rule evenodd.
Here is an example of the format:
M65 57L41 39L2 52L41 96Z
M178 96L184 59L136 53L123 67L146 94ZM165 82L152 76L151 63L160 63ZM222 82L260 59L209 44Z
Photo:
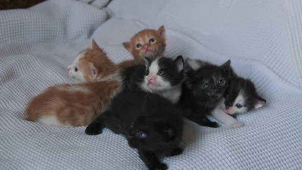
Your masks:
M94 39L92 48L81 51L67 67L71 77L87 82L100 81L103 77L115 73L117 68Z

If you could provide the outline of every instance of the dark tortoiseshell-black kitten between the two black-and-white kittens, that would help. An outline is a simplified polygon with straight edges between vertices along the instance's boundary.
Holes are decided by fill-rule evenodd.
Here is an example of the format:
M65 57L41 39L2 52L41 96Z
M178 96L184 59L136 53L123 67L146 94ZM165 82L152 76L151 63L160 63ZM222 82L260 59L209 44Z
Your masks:
M207 63L196 70L186 68L186 80L179 103L186 118L203 126L220 126L206 115L214 110L228 86L230 63L228 60L222 66Z

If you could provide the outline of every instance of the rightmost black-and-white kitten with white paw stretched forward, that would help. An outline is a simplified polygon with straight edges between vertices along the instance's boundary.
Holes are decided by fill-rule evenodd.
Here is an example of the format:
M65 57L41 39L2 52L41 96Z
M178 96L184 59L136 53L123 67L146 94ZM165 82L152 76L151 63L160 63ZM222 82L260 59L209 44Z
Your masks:
M217 108L212 111L212 116L231 128L239 128L244 123L236 120L233 115L246 113L253 109L261 108L266 100L257 94L254 83L236 75L231 69L231 80L224 97ZM232 116L230 116L232 115Z

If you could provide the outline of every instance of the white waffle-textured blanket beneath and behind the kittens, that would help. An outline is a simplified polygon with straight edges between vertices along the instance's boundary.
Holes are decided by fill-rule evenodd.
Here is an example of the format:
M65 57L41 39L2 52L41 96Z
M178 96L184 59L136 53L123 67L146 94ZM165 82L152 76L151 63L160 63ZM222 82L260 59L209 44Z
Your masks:
M121 42L162 24L166 56L217 64L231 58L235 71L267 99L263 108L238 117L245 123L239 129L186 121L184 153L163 160L169 169L301 169L302 90L294 57L300 54L292 53L301 36L299 3L189 2L114 0L112 18L103 24L104 11L77 1L0 11L0 169L145 169L137 151L109 130L88 136L85 127L50 128L25 121L24 110L46 87L76 82L67 66L92 37L119 62L131 58Z

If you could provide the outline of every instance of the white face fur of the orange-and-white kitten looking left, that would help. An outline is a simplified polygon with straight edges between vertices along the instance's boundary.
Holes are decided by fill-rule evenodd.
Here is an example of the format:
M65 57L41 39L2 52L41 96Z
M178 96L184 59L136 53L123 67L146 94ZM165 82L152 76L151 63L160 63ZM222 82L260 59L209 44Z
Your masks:
M85 78L84 78L84 75L81 72L81 69L78 66L79 59L82 58L82 57L84 57L84 52L85 51L79 53L76 56L76 58L73 60L73 62L67 67L68 69L70 69L68 71L69 75L72 78L75 78L75 79L78 79L78 80L81 80L81 81L86 81ZM75 71L76 68L78 69L77 72Z

